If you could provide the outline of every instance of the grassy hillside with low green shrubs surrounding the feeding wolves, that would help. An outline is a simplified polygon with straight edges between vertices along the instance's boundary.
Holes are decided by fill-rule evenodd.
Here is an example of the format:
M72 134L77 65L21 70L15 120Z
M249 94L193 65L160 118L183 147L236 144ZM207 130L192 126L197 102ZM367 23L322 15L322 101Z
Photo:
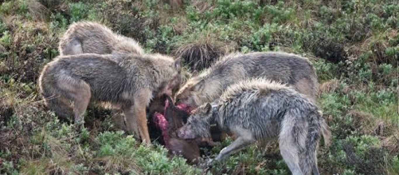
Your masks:
M184 0L173 9L162 0L2 1L0 174L202 174L181 157L169 159L162 146L142 146L116 130L107 110L89 109L87 130L78 133L45 107L38 73L59 54L59 36L80 20L132 37L147 53L200 61L199 70L235 51L308 57L333 133L332 145L318 151L320 173L399 174L396 0ZM290 174L278 150L256 146L211 173Z

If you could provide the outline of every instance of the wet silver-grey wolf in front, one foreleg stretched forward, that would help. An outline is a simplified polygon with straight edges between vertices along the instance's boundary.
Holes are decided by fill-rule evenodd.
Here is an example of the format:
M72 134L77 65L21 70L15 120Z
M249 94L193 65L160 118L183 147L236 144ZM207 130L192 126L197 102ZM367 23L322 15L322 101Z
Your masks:
M210 125L216 124L236 139L209 160L208 166L255 142L278 141L293 175L318 175L316 151L322 120L318 106L292 87L255 78L240 81L219 100L199 106L178 130L178 137L210 137Z

